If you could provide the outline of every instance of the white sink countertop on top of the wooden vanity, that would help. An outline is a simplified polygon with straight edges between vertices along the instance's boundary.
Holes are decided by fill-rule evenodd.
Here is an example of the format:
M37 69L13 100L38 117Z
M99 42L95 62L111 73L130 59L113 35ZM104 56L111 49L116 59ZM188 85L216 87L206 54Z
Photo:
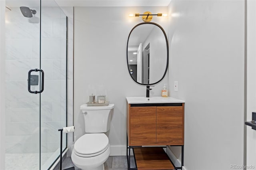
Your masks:
M129 104L142 104L142 103L185 103L180 99L173 97L126 97Z

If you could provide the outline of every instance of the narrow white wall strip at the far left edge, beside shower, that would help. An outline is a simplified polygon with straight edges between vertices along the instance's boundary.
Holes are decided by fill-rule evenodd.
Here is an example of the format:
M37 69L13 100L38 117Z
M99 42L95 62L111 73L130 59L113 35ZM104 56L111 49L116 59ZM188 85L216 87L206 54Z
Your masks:
M0 0L0 169L5 167L5 1Z

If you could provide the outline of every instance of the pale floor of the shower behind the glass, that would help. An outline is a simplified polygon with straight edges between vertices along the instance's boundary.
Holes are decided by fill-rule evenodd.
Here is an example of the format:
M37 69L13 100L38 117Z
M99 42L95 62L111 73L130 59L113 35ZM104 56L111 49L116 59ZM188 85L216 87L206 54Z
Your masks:
M47 163L54 152L42 153L41 161ZM5 169L6 170L38 170L39 154L6 154ZM55 159L54 159L55 160ZM51 162L53 162L52 160ZM50 164L51 165L51 164ZM49 166L48 165L48 168ZM42 167L47 166L43 165Z

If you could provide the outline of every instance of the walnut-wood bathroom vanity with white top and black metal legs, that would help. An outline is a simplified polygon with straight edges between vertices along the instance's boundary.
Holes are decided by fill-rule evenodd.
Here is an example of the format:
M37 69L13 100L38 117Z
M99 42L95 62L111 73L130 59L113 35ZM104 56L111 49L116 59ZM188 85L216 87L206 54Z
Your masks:
M185 102L172 97L126 97L126 101L128 169L181 169L163 148L181 146L183 165ZM131 149L136 168L130 168Z

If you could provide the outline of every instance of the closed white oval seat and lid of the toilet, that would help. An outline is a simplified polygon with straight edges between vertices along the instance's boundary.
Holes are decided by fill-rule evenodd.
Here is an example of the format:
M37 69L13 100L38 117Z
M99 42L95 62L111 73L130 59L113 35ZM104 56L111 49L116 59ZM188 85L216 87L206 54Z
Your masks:
M74 144L74 153L81 157L97 156L109 147L108 137L104 133L88 133Z

